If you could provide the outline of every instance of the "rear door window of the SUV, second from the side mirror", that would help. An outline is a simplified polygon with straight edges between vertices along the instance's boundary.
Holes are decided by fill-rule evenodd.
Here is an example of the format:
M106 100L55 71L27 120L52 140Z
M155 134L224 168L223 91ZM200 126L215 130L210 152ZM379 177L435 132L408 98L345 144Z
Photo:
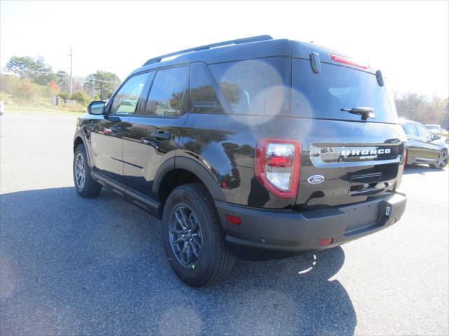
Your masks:
M145 114L147 116L177 117L187 90L189 69L187 66L163 69L156 72L149 91Z

